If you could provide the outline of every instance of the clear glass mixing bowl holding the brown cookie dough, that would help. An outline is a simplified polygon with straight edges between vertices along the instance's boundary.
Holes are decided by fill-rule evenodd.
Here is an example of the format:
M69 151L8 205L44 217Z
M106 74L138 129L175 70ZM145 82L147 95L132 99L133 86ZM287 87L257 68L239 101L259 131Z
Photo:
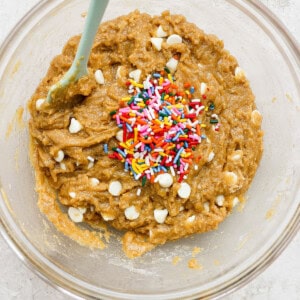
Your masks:
M264 116L265 151L242 211L217 231L127 259L113 238L92 251L39 212L28 157L26 102L51 59L82 31L87 0L42 1L15 27L0 54L1 232L16 254L57 288L85 298L190 299L219 296L257 276L299 227L299 49L258 1L111 0L105 19L133 9L170 9L214 33L246 70ZM138 30L138 29L137 29ZM25 109L22 115L22 108ZM194 247L202 270L187 266ZM175 266L172 259L179 256Z

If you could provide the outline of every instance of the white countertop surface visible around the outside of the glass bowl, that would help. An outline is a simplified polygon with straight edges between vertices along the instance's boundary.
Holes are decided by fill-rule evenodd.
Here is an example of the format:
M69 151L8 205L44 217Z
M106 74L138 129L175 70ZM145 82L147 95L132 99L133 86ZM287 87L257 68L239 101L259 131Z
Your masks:
M200 0L201 1L201 0ZM300 1L261 0L289 28L300 43ZM0 0L0 43L38 0ZM300 234L260 276L225 300L300 299ZM72 299L46 284L27 269L0 236L0 300Z

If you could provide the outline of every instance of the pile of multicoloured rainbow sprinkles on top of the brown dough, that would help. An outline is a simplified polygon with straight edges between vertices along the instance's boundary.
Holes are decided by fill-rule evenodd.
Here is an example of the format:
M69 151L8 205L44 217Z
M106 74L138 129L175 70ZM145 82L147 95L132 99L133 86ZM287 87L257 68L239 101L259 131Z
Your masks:
M126 85L129 96L110 113L120 131L118 147L108 156L122 161L125 171L141 179L142 186L147 180L157 182L164 173L177 177L178 182L187 179L193 161L200 159L193 151L206 138L201 134L206 127L201 117L204 111L214 110L214 104L203 104L206 95L202 91L201 99L194 98L196 89L188 82L181 90L167 68L148 75L143 83L129 79ZM210 123L219 130L216 114Z

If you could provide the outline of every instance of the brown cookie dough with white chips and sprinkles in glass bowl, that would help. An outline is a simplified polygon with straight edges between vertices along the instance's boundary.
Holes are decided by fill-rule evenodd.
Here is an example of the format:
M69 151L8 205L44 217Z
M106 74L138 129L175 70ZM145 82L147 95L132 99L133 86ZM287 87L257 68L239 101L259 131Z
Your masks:
M92 248L105 247L102 235L80 224L124 231L130 258L216 229L263 149L262 116L236 59L181 15L134 11L101 24L89 75L66 101L44 105L78 42L70 38L29 101L41 211Z

